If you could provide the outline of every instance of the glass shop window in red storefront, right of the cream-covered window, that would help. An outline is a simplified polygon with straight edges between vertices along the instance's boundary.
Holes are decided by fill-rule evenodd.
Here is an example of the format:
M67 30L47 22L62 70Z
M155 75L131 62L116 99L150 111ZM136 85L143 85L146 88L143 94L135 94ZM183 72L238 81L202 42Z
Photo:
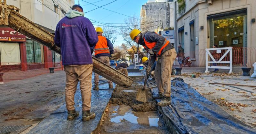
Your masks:
M44 49L40 43L27 40L26 42L27 63L44 63Z

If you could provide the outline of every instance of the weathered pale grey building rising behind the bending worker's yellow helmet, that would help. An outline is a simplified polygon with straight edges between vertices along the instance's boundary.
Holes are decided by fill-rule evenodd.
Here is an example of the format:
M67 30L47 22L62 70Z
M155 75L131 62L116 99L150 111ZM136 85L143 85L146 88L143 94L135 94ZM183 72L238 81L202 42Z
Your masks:
M140 11L140 28L144 31L171 30L174 27L173 0L148 0Z

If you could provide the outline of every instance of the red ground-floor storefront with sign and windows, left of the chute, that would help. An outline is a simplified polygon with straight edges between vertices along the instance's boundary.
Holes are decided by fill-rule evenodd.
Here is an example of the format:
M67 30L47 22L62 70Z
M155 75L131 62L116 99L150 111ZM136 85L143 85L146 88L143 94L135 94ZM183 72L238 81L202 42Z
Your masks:
M0 27L0 72L61 67L61 56L12 28Z

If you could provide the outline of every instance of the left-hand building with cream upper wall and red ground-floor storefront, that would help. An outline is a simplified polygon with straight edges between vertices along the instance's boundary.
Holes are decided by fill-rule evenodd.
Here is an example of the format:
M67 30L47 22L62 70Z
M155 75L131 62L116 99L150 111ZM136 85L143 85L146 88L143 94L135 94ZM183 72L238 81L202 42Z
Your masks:
M74 0L8 0L20 14L50 33L74 5ZM59 14L60 7L60 14ZM7 27L0 26L0 71L28 71L61 67L61 56L42 44Z

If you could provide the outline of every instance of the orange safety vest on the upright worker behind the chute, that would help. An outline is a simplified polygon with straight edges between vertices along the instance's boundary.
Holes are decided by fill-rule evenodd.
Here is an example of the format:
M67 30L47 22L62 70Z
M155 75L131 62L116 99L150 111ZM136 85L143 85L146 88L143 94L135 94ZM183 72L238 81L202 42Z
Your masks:
M99 41L94 48L95 56L101 53L109 53L107 38L101 35L98 35L98 38Z

